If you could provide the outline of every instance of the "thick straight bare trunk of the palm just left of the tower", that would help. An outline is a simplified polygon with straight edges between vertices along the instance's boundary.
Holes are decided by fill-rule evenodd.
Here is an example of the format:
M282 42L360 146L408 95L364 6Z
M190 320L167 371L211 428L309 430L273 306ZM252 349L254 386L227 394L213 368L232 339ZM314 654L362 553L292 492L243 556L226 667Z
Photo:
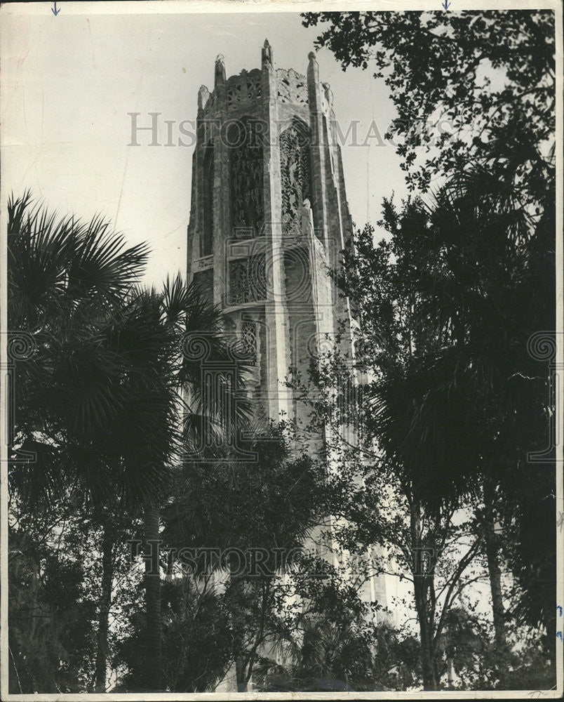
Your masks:
M145 607L147 609L147 680L151 691L162 691L161 572L159 563L159 525L161 510L147 506L145 529Z

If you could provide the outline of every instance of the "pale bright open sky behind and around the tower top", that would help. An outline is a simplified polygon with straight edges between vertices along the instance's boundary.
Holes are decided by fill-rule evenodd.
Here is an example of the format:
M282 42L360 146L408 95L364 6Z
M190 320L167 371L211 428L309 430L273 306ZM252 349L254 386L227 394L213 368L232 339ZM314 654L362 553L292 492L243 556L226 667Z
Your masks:
M128 241L149 242L147 279L158 283L184 271L193 152L164 145L164 120L176 143L178 124L196 119L200 85L213 89L218 53L229 77L260 67L268 38L276 67L305 73L317 32L297 13L97 15L95 5L73 15L62 3L56 17L47 3L2 6L2 185L5 194L29 187L60 213L101 211ZM342 72L325 50L318 63L342 133L358 125L356 145L351 133L342 145L353 219L375 223L382 197L405 195L395 148L382 145L394 107L369 70ZM147 131L128 146L129 112L141 113L140 126L161 113L160 146L149 146Z

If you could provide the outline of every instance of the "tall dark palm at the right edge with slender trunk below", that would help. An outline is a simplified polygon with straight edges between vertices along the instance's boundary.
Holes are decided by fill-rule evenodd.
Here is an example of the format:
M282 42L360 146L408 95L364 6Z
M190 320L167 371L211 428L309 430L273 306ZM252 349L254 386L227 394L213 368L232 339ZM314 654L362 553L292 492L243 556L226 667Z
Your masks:
M511 173L515 167L507 166ZM442 270L437 266L432 272L434 290L423 305L443 329L452 329L455 365L447 392L461 383L468 402L483 414L474 456L480 471L481 529L500 650L506 649L506 636L501 539L495 523L503 515L494 505L499 501L513 505L513 518L523 523L523 498L516 500L516 484L528 493L530 475L535 473L537 499L542 499L546 491L541 491L551 483L544 466L541 477L539 467L528 465L526 455L544 445L544 416L549 409L546 372L529 355L528 338L539 330L554 329L553 178L549 175L539 190L536 209L523 204L525 190L518 178L504 179L474 167L452 178L438 193L429 212L431 228L448 253L441 257ZM457 324L455 320L461 319L464 324ZM528 524L524 531L530 533ZM517 541L521 543L522 537ZM553 548L550 551L556 557ZM546 576L550 581L549 572Z

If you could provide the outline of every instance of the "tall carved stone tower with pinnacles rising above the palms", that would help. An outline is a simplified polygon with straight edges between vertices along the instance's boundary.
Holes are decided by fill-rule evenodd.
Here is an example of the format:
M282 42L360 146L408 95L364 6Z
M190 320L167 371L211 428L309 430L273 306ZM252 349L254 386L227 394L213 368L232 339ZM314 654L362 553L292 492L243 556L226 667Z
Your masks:
M333 94L314 53L303 76L276 69L265 41L260 69L226 78L217 57L196 124L187 280L246 347L257 412L307 423L309 409L283 385L289 369L307 375L311 353L340 322L354 324L327 272L352 234ZM382 588L371 583L365 597L384 600Z

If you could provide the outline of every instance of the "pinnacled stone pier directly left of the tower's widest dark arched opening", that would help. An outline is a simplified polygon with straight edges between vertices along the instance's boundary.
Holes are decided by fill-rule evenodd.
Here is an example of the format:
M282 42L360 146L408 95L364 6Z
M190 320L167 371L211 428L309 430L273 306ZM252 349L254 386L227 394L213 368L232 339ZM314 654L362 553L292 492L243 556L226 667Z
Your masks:
M227 240L230 236L229 146L227 145L227 86L225 65L220 54L215 59L213 111L213 303L222 305L226 292Z

